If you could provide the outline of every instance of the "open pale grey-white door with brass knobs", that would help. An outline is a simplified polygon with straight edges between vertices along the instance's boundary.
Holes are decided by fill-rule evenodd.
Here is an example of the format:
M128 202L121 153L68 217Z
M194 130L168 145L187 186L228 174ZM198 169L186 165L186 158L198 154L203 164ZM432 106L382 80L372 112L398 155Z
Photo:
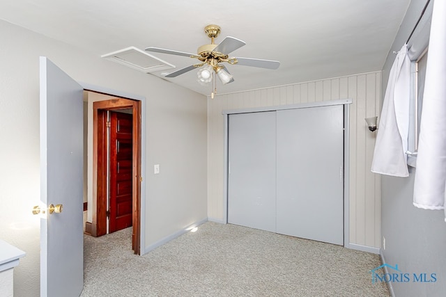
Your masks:
M79 296L82 234L82 86L40 57L40 200L63 204L40 223L40 296Z

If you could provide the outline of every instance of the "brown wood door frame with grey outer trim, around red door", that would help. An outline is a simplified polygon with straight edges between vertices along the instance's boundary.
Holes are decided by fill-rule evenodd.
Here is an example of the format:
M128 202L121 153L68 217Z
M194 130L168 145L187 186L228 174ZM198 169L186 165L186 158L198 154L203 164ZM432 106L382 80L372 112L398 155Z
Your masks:
M146 173L146 116L144 111L146 110L146 97L142 97L139 95L133 95L129 93L123 93L120 91L102 88L98 86L93 86L88 83L81 83L81 86L84 87L85 91L91 91L95 93L102 93L105 95L109 95L116 99L112 100L114 102L109 102L110 100L105 100L102 103L96 104L97 109L93 107L93 203L92 203L92 214L93 221L91 222L91 235L100 236L107 233L107 216L105 214L105 210L107 208L107 197L103 195L101 198L97 198L96 193L99 193L103 189L106 189L102 186L102 188L98 187L99 179L103 179L103 175L99 174L100 168L98 168L98 163L100 160L98 159L98 131L95 131L94 127L98 127L95 125L95 117L98 116L98 110L100 109L125 109L130 108L133 109L133 164L132 164L132 175L133 175L133 233L132 233L132 248L136 255L141 255L141 246L145 246L145 211L146 209L146 186L143 182L143 177ZM95 102L94 102L95 103ZM93 103L93 105L94 105ZM98 118L96 118L98 120ZM135 142L136 141L136 142ZM95 146L96 145L96 146ZM100 165L102 166L102 165ZM105 180L102 180L102 184L104 184ZM102 192L103 193L103 192ZM105 204L104 204L105 203ZM102 211L99 213L99 211ZM100 222L98 233L98 222ZM103 233L105 230L105 233Z

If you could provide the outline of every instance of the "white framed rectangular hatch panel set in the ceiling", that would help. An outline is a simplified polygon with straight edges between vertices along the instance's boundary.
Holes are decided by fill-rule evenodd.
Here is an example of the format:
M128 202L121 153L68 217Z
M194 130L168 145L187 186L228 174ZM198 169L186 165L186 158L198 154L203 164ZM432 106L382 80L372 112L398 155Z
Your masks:
M109 54L102 55L101 58L120 63L130 68L145 73L175 68L175 65L167 63L151 54L146 53L136 47L127 47Z

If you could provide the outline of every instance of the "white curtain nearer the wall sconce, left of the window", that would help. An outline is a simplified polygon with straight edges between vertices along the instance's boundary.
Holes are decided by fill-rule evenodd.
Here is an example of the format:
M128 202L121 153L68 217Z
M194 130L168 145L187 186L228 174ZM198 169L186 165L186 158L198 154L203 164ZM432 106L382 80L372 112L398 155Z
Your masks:
M390 70L376 136L371 171L408 177L407 147L410 104L410 59L403 45Z

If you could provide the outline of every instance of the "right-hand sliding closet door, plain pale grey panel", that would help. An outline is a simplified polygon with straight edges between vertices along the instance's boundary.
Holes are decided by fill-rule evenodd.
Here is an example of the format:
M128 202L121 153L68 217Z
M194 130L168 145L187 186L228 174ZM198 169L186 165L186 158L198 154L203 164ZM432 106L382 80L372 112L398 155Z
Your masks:
M277 111L277 233L344 242L344 106Z

